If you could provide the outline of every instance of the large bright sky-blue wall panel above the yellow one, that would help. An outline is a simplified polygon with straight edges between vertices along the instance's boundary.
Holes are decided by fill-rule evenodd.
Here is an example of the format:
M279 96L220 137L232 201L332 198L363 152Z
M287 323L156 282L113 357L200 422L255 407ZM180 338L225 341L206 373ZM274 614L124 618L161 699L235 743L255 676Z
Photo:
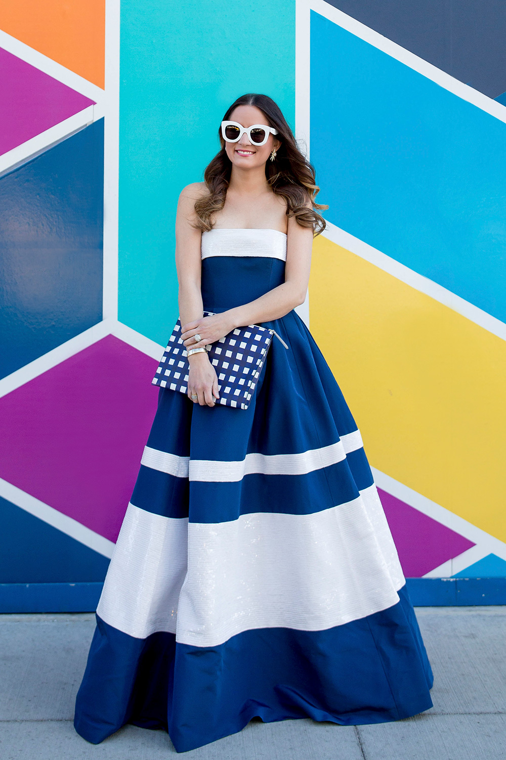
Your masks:
M506 321L506 124L312 12L325 217Z

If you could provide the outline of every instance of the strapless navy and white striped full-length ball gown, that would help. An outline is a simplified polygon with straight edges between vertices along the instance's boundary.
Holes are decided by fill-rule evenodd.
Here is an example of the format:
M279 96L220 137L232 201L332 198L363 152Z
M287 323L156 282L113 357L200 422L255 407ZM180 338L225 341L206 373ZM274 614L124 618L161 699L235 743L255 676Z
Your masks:
M284 281L276 230L202 236L204 309ZM336 317L337 318L337 317ZM432 670L360 432L295 311L247 410L159 389L99 606L74 727L185 752L263 721L399 720Z

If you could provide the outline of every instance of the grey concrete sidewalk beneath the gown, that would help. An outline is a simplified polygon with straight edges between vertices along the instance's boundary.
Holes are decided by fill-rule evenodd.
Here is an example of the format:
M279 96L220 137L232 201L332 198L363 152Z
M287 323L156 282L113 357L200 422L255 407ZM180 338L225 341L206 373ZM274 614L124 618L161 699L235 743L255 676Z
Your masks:
M434 707L377 726L250 723L185 752L188 760L504 760L506 606L418 607L434 670ZM92 745L72 726L93 615L0 616L2 760L162 760L168 735L127 726Z

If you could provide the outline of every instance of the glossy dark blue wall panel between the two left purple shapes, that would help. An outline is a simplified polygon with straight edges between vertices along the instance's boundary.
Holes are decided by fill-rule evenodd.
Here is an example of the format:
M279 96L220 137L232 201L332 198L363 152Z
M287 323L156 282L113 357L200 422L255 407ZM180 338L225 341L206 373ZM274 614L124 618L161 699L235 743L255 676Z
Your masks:
M102 319L103 119L0 179L0 377Z

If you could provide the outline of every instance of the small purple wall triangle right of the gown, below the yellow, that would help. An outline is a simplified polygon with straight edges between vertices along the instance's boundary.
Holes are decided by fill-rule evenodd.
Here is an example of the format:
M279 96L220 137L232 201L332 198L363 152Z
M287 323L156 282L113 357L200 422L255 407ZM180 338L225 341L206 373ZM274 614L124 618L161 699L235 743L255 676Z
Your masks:
M407 578L421 578L471 546L472 541L378 489Z

